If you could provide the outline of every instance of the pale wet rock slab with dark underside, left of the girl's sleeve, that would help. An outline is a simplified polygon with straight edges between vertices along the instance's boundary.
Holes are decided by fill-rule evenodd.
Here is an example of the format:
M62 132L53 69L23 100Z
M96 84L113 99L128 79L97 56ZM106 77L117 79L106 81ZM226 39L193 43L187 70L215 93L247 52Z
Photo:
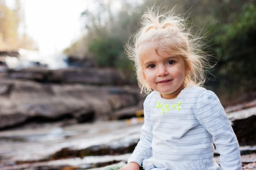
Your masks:
M137 144L140 127L125 121L94 122L59 127L17 128L0 132L1 163L28 163L51 159L130 153ZM123 133L123 132L126 133ZM86 158L85 157L85 158Z

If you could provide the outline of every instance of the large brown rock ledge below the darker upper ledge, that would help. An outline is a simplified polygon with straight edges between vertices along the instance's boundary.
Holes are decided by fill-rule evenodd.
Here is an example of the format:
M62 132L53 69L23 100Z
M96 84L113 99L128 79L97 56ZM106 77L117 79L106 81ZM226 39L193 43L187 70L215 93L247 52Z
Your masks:
M130 90L133 89L133 90ZM138 90L116 86L49 84L33 81L0 82L0 128L26 120L74 117L78 122L113 119L113 113L137 105Z

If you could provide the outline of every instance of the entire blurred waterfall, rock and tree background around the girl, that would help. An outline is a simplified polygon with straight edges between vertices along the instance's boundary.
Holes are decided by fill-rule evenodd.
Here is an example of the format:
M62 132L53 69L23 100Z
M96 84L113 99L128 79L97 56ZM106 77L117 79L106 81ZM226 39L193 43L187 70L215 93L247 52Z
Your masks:
M144 94L124 46L147 6L188 17L214 91L256 169L255 0L0 0L0 169L126 164ZM214 154L218 161L218 154Z

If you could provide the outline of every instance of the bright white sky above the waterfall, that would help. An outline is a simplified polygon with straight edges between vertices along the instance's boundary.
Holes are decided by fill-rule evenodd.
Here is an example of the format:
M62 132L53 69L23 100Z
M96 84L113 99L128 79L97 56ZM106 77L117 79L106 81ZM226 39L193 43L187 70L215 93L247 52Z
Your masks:
M85 33L81 13L95 0L21 0L24 24L19 31L29 35L43 54L63 51ZM15 0L7 0L10 8Z

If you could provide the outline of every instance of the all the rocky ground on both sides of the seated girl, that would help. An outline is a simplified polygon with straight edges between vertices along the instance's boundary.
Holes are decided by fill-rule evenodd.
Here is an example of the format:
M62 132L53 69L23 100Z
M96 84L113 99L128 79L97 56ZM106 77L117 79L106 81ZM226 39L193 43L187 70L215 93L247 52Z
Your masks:
M0 72L0 170L126 164L139 141L143 119L134 116L143 100L138 87L114 69ZM256 169L256 100L225 111L243 170Z

